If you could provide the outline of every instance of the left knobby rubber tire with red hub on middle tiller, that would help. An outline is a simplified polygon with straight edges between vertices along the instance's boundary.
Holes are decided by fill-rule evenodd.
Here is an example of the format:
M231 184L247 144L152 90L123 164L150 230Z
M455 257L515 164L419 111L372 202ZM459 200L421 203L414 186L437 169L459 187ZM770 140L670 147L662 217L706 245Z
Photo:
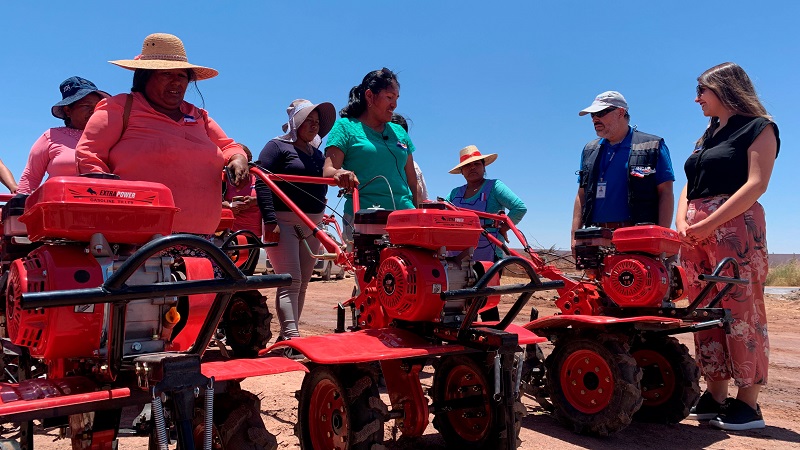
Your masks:
M377 374L369 367L317 366L306 374L297 397L295 434L301 449L383 448L386 405L378 393ZM327 408L331 408L335 416L325 414ZM328 425L322 427L323 423ZM320 428L315 429L315 426ZM320 436L324 440L328 431L333 432L332 442L320 442ZM336 436L343 436L344 441L335 442Z

